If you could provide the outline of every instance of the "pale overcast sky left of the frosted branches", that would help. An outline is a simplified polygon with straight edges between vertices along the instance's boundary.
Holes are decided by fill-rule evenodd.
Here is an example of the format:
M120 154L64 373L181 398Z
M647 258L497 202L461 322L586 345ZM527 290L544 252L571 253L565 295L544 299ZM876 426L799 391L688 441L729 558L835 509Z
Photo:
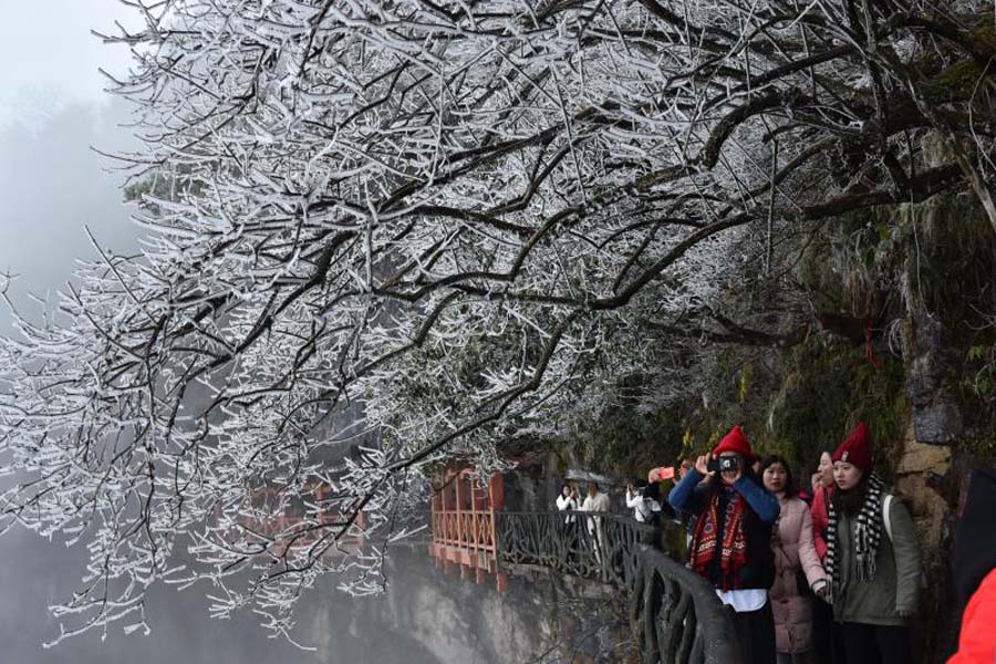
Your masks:
M91 149L131 145L117 126L128 108L98 73L127 71L129 53L90 31L135 25L132 12L117 0L0 0L0 271L18 276L9 292L19 308L93 256L84 226L106 247L134 247L122 178Z

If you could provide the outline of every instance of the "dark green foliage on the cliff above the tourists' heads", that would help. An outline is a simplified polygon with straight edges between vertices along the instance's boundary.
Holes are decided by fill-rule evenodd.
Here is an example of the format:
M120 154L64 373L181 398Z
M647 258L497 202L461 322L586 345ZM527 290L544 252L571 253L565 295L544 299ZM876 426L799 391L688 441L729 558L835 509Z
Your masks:
M650 412L635 397L621 400L584 427L580 459L641 475L704 453L741 424L758 452L809 470L864 419L889 473L913 407L911 372L922 370L911 363L924 343L942 346L931 371L938 388L956 393L962 445L996 455L996 235L973 197L843 217L800 238L792 268L790 283L817 322L800 343L714 344L693 355L694 388L683 400ZM770 304L755 297L753 307ZM942 338L917 341L916 317L938 320ZM624 390L650 384L644 377Z

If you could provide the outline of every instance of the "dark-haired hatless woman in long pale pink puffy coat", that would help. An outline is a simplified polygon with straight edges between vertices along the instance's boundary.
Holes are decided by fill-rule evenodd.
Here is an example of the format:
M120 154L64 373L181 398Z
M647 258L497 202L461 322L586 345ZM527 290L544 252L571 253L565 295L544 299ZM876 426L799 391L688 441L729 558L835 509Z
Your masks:
M796 496L792 474L784 458L765 459L761 474L765 488L781 505L781 516L771 533L776 573L768 593L775 613L778 664L810 664L816 661L812 598L806 591L822 596L828 589L827 574L813 546L812 516L809 506Z

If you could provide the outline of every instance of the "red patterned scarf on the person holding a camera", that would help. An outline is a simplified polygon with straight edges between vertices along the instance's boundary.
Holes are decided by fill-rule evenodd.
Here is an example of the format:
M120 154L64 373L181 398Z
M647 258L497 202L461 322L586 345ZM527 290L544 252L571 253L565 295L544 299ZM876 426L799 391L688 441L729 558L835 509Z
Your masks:
M709 504L692 535L689 549L692 569L706 579L709 578L709 563L716 557L719 549L720 590L736 590L740 587L736 572L747 564L747 535L744 529L744 518L747 513L747 501L733 489L729 491L726 504L723 532L717 532L719 525L719 491L714 491L709 497ZM718 538L723 541L718 541Z

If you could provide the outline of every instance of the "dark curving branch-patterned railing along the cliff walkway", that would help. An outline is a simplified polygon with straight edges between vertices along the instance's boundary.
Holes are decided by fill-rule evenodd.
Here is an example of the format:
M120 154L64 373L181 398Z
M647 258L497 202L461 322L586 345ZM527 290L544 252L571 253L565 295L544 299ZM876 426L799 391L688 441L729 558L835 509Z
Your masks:
M536 564L622 590L646 664L740 664L713 588L660 550L661 530L610 513L500 512L499 564Z

